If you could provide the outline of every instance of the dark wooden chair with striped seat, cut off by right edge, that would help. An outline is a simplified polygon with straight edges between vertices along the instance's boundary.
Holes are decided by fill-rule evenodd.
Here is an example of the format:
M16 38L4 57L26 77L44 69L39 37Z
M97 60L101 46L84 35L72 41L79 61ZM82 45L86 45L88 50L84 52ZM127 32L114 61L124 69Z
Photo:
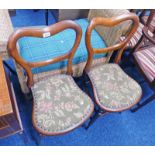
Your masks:
M132 109L132 112L155 99L155 34L150 33L150 27L148 26L145 26L142 32L143 36L133 53L133 58L154 93L144 102L138 103L137 107ZM142 47L143 42L145 42L145 46Z

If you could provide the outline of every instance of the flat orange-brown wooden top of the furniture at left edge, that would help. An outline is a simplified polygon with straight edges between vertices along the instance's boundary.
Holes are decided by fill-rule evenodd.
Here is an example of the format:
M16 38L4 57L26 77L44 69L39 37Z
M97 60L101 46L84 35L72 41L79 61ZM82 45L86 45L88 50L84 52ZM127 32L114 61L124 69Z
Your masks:
M0 58L0 116L13 112L3 62Z

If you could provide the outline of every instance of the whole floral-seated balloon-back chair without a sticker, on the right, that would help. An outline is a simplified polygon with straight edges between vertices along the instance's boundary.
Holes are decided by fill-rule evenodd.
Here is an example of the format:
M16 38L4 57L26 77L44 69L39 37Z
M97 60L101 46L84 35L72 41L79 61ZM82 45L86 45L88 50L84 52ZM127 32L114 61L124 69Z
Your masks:
M94 49L91 44L91 33L96 26L113 27L124 21L131 20L132 28L128 36L121 42L102 49ZM88 128L99 116L110 112L121 112L136 105L142 95L139 84L130 78L118 65L126 44L133 36L139 25L138 17L135 14L124 14L110 19L103 17L93 18L86 31L86 47L88 60L84 69L85 82L90 80L93 95L97 108L95 114L89 122ZM95 54L118 51L114 63L105 63L96 67L91 67Z

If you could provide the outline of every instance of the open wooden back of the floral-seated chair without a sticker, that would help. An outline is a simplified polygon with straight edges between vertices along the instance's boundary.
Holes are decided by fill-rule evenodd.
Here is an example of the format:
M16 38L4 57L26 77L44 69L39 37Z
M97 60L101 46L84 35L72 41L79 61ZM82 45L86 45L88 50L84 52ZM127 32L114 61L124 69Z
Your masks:
M93 49L91 45L91 32L96 26L102 25L107 27L113 27L128 20L131 20L133 22L132 28L130 29L130 32L128 33L128 35L123 41L116 43L112 46L109 46L107 48ZM87 28L86 37L85 37L86 47L88 51L88 61L85 66L85 71L88 72L90 70L90 66L92 64L94 54L108 53L111 51L119 50L115 58L115 63L119 63L126 44L131 39L135 31L137 30L138 26L139 26L139 19L134 13L128 13L128 14L124 14L124 15L120 15L112 18L103 18L103 17L93 18Z

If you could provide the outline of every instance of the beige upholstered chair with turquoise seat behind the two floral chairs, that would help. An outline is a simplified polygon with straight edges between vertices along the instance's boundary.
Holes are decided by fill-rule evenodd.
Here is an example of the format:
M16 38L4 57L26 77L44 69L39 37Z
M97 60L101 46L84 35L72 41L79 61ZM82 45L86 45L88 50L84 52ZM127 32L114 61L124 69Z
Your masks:
M130 14L128 10L123 9L92 9L89 10L87 19L75 20L82 28L82 39L73 59L73 76L78 77L82 75L84 66L87 61L87 49L85 46L85 32L89 21L97 16L100 17L117 17L122 14ZM115 27L97 27L92 33L92 44L94 48L103 48L110 46L119 41L122 35L125 35L131 27L131 22L126 21ZM35 29L35 28L34 28ZM66 40L69 42L66 43ZM18 51L22 58L30 62L45 61L49 58L54 58L60 54L65 54L66 51L71 48L75 34L71 30L65 30L60 35L47 37L47 38L35 38L35 37L24 37L18 41ZM54 44L51 44L53 42ZM53 52L51 52L53 51ZM112 52L107 54L100 54L95 56L93 65L105 63L109 61ZM108 57L108 59L106 59ZM32 71L34 73L34 80L39 81L41 78L49 77L57 73L66 72L66 61L59 62L55 65L48 65L46 67L36 67ZM27 87L27 76L24 74L23 69L19 64L16 64L17 74L22 91L27 94L29 89Z

